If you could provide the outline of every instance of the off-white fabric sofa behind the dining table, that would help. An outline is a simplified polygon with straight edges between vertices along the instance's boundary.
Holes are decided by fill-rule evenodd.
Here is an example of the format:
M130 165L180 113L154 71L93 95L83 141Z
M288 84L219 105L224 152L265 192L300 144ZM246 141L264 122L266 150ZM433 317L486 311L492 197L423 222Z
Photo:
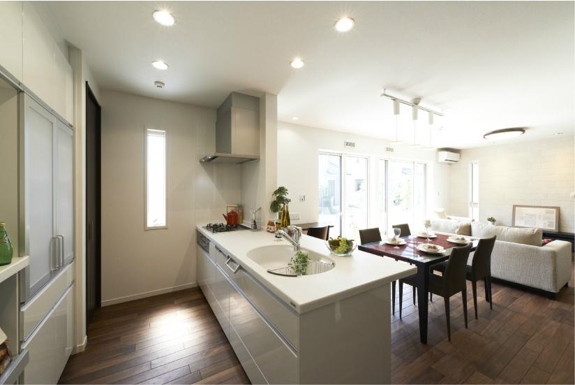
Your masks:
M554 297L571 278L571 243L554 240L542 246L538 228L493 226L454 219L433 219L438 233L489 238L497 235L491 254L491 276L546 291ZM472 256L468 261L470 265Z

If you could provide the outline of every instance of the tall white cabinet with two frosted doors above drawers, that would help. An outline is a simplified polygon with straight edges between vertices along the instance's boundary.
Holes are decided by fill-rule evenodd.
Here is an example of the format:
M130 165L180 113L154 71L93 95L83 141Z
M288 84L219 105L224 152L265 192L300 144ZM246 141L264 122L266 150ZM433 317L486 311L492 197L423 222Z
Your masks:
M73 131L20 99L20 340L24 383L57 382L73 349Z

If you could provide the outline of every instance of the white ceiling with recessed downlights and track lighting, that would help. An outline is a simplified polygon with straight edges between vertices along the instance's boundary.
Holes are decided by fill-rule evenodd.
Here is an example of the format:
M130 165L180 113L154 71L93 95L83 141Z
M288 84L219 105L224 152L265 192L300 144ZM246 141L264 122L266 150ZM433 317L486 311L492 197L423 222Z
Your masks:
M574 131L574 3L569 2L47 2L98 84L217 107L232 91L278 95L286 122L395 138L384 88L445 112L439 147ZM174 27L152 20L167 8ZM334 30L350 15L356 27ZM289 66L301 56L306 66ZM150 63L170 64L158 71ZM165 89L154 89L163 80ZM412 139L402 110L403 139ZM418 138L428 143L426 117Z

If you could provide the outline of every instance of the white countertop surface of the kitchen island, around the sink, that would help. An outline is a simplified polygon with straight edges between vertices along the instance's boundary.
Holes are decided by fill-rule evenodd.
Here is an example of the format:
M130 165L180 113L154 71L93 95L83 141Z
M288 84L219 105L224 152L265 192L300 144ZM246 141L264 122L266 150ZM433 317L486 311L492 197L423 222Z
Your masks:
M322 254L334 261L336 266L326 273L281 277L267 273L265 268L249 259L247 254L256 247L278 245L278 243L290 245L288 241L278 242L274 234L266 231L242 230L212 234L202 226L204 225L198 224L197 230L206 235L223 252L233 256L234 261L257 278L269 291L285 303L292 303L290 307L300 314L417 273L417 268L408 263L360 250L356 250L352 256L335 256L329 254L323 240L302 235L302 249Z

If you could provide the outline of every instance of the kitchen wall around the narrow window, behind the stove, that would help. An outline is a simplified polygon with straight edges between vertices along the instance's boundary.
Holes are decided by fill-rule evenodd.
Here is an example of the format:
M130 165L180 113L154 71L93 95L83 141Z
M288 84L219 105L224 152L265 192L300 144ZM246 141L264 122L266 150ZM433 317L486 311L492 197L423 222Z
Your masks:
M104 305L195 285L195 220L239 201L239 166L203 165L216 111L100 91ZM144 231L144 126L167 130L167 229Z

